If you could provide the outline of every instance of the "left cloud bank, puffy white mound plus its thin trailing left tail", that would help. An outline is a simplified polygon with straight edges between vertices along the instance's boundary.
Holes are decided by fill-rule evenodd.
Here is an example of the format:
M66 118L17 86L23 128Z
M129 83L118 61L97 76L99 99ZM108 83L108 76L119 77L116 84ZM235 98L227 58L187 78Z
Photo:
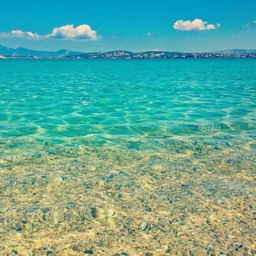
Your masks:
M12 30L10 33L0 33L1 37L26 38L26 39L47 39L58 38L65 40L96 40L97 33L89 25L83 24L76 28L73 24L61 26L60 28L52 29L49 35L38 35L31 31L24 32L20 29Z

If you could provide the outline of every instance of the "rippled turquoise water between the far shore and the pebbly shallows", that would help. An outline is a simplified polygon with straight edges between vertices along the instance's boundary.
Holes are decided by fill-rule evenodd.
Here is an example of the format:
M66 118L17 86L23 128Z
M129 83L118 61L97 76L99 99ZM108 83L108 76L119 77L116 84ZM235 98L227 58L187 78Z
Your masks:
M2 140L100 144L202 134L200 124L255 129L254 60L8 60L0 67Z

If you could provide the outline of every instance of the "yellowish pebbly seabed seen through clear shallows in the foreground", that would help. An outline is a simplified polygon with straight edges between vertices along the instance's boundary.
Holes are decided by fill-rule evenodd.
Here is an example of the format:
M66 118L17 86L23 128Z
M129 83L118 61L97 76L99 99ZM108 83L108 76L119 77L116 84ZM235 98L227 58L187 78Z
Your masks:
M130 142L1 143L0 254L255 255L255 141Z

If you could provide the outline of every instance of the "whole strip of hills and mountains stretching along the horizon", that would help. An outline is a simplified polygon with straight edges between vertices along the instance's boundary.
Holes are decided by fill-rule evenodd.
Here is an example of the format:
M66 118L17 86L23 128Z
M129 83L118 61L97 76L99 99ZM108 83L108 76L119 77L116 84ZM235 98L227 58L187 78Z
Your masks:
M67 49L61 49L60 51L51 52L51 51L35 51L26 49L23 47L19 48L10 48L5 47L4 45L0 45L0 56L12 56L12 57L20 57L20 56L33 56L33 57L51 57L51 58L138 58L138 56L182 56L182 54L186 54L186 56L195 56L197 54L199 58L204 54L256 54L256 49L232 49L226 51L218 51L218 52L202 52L202 53L191 53L191 52L166 52L166 51L147 51L147 52L129 52L129 51L111 51L111 52L90 52L84 53L79 51L68 51Z

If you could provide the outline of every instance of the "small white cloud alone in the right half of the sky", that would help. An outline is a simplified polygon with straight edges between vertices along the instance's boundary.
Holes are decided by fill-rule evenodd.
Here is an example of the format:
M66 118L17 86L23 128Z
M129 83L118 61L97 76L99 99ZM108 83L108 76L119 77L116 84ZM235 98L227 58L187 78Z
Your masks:
M191 30L212 30L216 28L220 28L220 23L214 24L208 24L207 21L203 21L201 19L195 19L195 20L177 20L173 26L176 30L182 30L182 31L191 31Z

